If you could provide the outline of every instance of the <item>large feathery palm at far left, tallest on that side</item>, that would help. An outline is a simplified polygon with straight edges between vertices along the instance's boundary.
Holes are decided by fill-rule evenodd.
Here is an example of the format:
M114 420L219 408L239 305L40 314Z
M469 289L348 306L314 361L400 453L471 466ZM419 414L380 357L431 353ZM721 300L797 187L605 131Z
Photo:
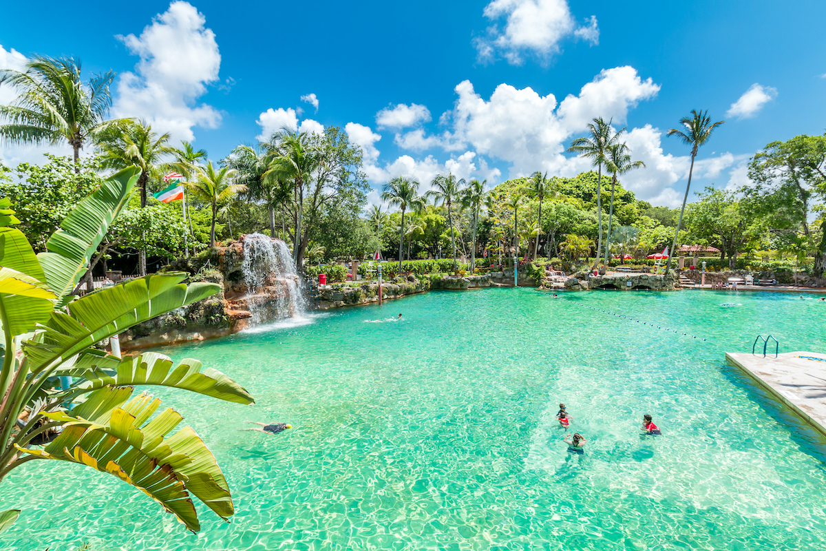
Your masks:
M74 57L38 56L26 70L0 70L0 86L20 91L10 105L0 106L0 140L9 143L56 145L68 141L74 150L74 171L80 172L78 154L102 131L130 119L107 121L115 74L96 75L85 86L80 80L80 60Z

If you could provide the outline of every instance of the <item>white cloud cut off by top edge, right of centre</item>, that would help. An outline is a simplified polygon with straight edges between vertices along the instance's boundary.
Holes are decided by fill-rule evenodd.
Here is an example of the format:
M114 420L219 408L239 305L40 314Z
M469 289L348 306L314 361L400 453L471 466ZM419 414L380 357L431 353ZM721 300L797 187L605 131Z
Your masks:
M591 44L599 42L596 17L577 27L567 0L493 0L482 13L491 21L506 17L506 24L504 31L490 26L486 38L474 40L481 61L491 61L499 52L510 64L521 64L525 51L548 59L559 52L559 43L572 35Z

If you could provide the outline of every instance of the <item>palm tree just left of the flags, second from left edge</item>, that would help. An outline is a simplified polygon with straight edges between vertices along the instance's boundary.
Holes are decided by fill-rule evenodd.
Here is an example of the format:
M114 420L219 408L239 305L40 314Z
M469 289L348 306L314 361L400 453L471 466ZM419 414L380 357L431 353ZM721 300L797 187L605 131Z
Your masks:
M140 207L146 207L147 185L150 175L164 164L164 158L172 153L169 133L157 135L152 126L144 121L129 121L120 126L110 126L99 135L104 169L126 169L133 164L140 169ZM145 232L141 232L145 234ZM146 251L138 251L138 270L146 275Z

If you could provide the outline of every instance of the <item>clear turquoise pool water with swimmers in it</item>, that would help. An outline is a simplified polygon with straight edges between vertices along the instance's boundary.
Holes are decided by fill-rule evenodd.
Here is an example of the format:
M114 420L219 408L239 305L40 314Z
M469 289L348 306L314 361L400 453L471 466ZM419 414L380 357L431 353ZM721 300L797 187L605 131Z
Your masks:
M0 546L826 549L824 442L724 363L759 333L823 351L826 305L779 292L565 297L433 292L169 348L256 397L156 392L216 454L232 523L201 506L189 534L114 477L31 462L3 484L0 506L24 513ZM560 401L585 454L567 453ZM662 437L639 435L643 413ZM240 432L244 420L294 428Z

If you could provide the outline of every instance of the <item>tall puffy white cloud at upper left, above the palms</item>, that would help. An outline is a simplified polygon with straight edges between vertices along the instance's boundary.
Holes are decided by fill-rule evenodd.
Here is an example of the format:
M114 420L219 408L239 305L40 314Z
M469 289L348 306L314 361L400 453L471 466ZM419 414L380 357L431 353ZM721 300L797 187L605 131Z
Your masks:
M149 121L173 140L193 140L193 126L216 128L221 114L197 99L218 81L221 54L207 19L188 2L176 1L140 36L118 36L139 55L135 73L117 81L112 112Z

